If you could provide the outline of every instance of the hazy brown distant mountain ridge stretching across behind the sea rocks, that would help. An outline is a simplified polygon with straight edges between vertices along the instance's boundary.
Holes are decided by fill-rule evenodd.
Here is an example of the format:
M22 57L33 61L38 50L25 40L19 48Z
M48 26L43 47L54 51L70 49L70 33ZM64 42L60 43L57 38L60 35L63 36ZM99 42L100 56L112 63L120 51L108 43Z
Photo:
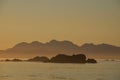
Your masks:
M85 43L81 46L71 41L57 41L42 43L33 41L31 43L21 42L7 50L0 50L0 57L33 57L33 56L53 56L56 54L79 54L84 53L96 58L120 58L120 47L110 44Z

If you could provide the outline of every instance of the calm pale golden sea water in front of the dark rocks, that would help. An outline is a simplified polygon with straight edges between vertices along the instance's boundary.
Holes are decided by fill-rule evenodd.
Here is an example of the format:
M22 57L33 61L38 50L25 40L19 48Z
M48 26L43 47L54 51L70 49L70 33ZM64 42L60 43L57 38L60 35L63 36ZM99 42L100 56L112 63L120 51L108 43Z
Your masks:
M0 62L0 80L120 80L119 61L97 64Z

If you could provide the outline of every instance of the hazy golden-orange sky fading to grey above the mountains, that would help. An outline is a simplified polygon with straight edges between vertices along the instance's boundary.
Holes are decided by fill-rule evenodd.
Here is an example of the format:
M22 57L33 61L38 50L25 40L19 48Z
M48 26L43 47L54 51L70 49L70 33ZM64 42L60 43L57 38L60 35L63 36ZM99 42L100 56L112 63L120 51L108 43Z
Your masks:
M0 50L52 39L120 46L120 0L0 0Z

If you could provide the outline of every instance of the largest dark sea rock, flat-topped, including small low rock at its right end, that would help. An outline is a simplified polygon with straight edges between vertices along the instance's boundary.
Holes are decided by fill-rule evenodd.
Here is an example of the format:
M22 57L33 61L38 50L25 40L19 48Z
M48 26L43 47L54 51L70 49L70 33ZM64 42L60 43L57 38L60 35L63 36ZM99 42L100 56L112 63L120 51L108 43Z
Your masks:
M77 54L68 56L65 54L58 54L55 57L52 57L50 62L53 63L97 63L95 59L86 60L86 56L84 54Z

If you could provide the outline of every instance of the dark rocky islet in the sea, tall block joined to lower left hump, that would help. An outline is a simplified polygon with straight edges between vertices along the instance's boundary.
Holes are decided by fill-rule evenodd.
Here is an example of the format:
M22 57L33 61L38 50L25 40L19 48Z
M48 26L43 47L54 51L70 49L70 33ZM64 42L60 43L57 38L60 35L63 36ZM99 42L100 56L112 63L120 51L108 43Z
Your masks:
M27 61L34 61L34 62L51 62L51 63L97 63L95 59L90 59L86 57L84 54L76 54L76 55L65 55L65 54L58 54L51 59L42 56L36 56L34 58L28 59Z

